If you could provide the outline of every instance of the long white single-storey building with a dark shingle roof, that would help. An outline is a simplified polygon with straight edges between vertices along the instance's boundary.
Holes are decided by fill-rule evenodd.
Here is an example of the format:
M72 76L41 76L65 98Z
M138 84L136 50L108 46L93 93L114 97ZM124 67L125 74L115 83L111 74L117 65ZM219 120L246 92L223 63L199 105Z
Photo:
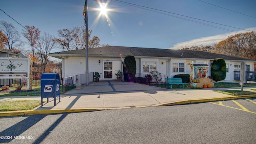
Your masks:
M72 50L55 52L49 56L62 60L62 78L85 74L86 50ZM123 69L124 58L134 56L136 60L136 73L150 74L150 71L158 71L169 78L177 74L190 74L191 68L186 60L195 67L205 68L207 76L211 76L211 64L215 58L223 58L226 62L227 73L223 82L240 82L236 80L236 73L240 71L241 62L246 63L246 71L253 71L256 60L191 50L171 50L160 48L136 48L124 46L106 46L88 49L88 68L90 72L99 72L100 80L116 80L118 70ZM196 73L194 78L196 78Z

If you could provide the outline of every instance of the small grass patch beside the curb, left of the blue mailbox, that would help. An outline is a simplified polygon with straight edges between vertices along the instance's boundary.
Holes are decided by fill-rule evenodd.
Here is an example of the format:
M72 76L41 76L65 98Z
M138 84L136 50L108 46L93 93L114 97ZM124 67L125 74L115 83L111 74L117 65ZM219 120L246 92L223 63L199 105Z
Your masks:
M0 102L0 112L13 110L32 110L41 104L40 100L9 100Z

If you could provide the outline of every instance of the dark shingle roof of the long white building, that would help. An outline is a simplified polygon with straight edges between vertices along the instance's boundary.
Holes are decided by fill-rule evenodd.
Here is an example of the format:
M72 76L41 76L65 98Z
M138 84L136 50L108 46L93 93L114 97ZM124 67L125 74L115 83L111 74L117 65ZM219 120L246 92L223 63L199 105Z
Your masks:
M85 49L71 50L65 52L50 53L50 56L69 55L69 56L85 56ZM193 50L171 50L160 48L137 48L137 47L124 47L124 46L106 46L99 48L88 49L89 56L127 56L133 55L134 57L158 57L158 58L191 58L191 59L210 59L223 58L224 60L246 60L256 61L248 58L240 58L236 56L228 56L223 54L215 54L203 51Z

